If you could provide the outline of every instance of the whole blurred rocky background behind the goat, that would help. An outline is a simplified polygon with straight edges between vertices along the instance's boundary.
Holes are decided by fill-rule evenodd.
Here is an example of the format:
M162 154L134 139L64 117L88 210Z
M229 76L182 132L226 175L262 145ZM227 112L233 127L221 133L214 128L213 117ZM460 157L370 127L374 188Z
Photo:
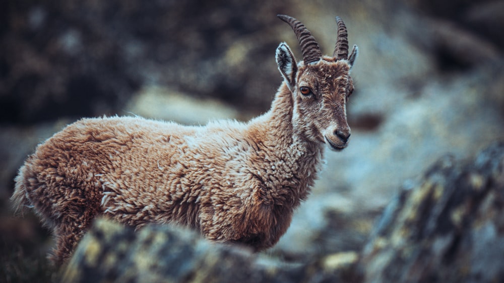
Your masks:
M349 147L327 164L287 234L265 251L300 262L360 250L377 215L445 154L504 139L504 2L371 0L75 1L0 4L0 281L50 280L52 246L14 217L14 177L35 146L82 117L184 124L267 111L275 49L302 21L331 55L335 16L359 46Z

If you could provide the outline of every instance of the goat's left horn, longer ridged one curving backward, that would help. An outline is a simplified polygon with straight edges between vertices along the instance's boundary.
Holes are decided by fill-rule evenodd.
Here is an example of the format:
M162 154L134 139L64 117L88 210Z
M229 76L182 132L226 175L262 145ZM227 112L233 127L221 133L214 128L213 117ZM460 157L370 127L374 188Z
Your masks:
M277 15L277 17L289 24L292 30L294 30L297 40L299 41L299 45L301 46L305 65L317 62L322 58L319 43L317 43L317 40L315 40L301 22L286 15Z

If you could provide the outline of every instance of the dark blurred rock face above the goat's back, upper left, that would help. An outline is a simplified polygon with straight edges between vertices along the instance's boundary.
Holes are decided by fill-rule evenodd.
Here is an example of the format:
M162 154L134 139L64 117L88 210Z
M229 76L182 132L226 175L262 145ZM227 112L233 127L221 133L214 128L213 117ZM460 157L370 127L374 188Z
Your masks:
M145 83L267 109L281 81L271 28L282 26L274 11L285 5L9 0L0 12L0 122L116 114Z

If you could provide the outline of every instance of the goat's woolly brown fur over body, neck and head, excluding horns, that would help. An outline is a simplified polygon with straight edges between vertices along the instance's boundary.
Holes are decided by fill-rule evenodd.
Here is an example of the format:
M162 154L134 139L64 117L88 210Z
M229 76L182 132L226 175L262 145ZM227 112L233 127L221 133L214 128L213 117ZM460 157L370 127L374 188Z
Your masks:
M136 228L177 223L256 250L274 245L306 199L324 148L346 146L353 88L346 60L304 66L286 44L277 49L282 56L289 78L271 110L247 123L82 119L40 144L20 168L12 200L18 210L33 207L51 229L55 263L98 215Z

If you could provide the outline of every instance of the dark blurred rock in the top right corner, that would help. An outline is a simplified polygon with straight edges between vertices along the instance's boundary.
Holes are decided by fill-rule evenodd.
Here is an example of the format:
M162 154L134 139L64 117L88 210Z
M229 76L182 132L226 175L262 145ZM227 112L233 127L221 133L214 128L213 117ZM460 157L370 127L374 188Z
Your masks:
M435 56L441 71L467 70L504 55L504 4L484 0L409 1L421 17L396 17L408 34ZM410 13L411 15L411 13Z

